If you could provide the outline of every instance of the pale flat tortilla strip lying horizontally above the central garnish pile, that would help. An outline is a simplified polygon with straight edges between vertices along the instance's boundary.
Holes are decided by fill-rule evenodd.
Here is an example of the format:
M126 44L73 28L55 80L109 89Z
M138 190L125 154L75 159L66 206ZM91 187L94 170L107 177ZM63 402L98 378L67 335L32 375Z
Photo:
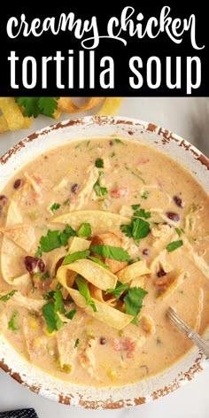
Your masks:
M74 229L78 229L81 226L81 223L89 222L92 232L94 233L101 230L120 228L120 225L130 223L130 219L111 212L74 211L64 213L63 215L54 218L51 222L69 224Z

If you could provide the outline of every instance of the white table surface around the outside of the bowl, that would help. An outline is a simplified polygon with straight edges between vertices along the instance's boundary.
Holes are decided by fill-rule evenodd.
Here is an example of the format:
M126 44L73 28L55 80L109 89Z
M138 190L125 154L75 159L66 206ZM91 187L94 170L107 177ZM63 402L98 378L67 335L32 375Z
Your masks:
M82 113L93 114L93 111ZM209 156L209 98L205 97L126 97L118 112L128 116L156 123L173 130L194 143L200 151ZM75 115L74 115L75 116ZM60 120L68 119L62 115ZM0 155L14 143L53 123L53 120L38 117L30 129L0 135ZM34 407L39 418L208 418L209 417L209 373L208 368L197 375L181 389L150 404L118 410L85 410L66 406L45 399L14 381L0 370L0 412L21 407Z

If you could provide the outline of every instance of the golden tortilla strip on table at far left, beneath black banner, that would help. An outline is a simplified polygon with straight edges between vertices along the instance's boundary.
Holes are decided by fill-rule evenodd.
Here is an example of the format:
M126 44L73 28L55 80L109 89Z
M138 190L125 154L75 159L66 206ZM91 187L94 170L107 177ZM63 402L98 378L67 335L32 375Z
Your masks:
M24 116L14 97L0 97L0 108L10 130L21 129L24 126Z

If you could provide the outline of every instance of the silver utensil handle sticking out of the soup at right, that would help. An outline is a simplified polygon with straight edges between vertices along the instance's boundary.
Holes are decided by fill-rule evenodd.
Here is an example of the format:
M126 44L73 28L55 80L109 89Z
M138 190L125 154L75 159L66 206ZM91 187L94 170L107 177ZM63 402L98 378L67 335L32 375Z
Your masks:
M176 314L172 307L168 307L166 311L167 316L170 318L174 324L181 329L181 331L190 338L190 340L197 345L197 347L205 354L206 357L209 357L209 344L197 334L194 329L191 329L189 325L182 320L182 318Z

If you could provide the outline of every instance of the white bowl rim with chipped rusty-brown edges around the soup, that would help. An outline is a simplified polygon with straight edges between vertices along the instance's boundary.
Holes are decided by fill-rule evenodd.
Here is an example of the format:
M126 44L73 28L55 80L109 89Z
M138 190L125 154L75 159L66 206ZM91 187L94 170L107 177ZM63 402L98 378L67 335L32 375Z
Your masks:
M59 144L89 138L120 139L149 144L180 163L206 193L209 192L209 160L191 143L165 128L142 120L94 116L58 122L29 135L0 159L0 188L15 171L39 154ZM209 338L209 329L205 338ZM120 408L140 405L178 389L205 367L204 355L193 347L170 368L138 383L122 386L92 387L61 381L27 362L0 335L0 367L19 383L40 395L66 405L85 408Z

